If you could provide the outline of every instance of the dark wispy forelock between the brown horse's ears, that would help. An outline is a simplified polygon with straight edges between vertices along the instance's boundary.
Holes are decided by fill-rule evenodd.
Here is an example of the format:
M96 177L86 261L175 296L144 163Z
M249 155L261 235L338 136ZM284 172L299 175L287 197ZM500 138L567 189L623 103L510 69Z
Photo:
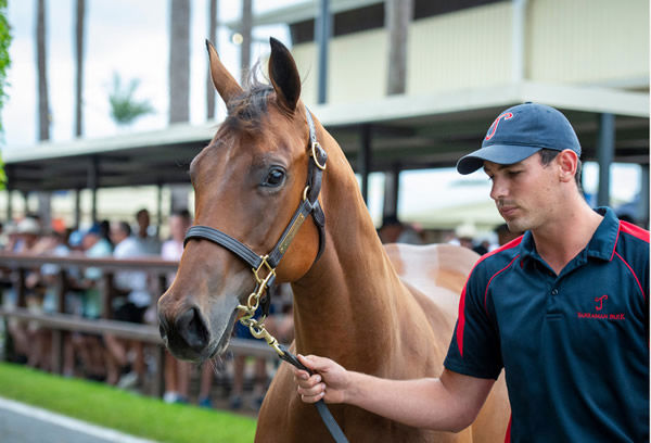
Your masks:
M244 80L244 92L228 103L228 116L224 122L228 129L248 132L259 130L267 114L267 97L273 92L269 83L260 81L260 65L256 63Z

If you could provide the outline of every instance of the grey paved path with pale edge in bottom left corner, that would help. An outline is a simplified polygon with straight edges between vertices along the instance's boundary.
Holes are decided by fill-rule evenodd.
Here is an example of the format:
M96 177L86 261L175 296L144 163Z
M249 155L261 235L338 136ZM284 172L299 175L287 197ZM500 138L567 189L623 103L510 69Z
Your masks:
M2 443L155 443L0 397Z

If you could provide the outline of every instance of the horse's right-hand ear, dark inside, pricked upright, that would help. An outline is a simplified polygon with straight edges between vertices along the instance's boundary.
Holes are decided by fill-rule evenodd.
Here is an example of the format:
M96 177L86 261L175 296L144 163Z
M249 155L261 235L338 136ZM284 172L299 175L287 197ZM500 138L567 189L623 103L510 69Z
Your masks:
M294 112L301 97L301 77L294 58L283 43L271 37L271 56L269 58L269 77L276 90L278 102Z

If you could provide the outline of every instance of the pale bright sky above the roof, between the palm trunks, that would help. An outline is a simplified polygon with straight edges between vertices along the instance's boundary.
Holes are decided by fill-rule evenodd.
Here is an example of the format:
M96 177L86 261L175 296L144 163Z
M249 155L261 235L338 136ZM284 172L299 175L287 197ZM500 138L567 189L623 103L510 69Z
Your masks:
M256 11L296 2L296 0L256 0ZM47 3L48 81L52 113L51 138L71 140L74 135L74 0L49 0ZM112 136L124 131L110 117L108 91L113 74L124 80L140 80L137 97L150 100L155 114L142 117L129 130L151 130L167 124L168 109L168 27L169 0L87 0L84 131L88 137ZM56 8L53 8L56 5ZM219 20L240 15L239 1L219 1ZM205 75L207 56L208 2L191 3L191 123L205 122ZM37 139L37 72L35 17L36 1L10 1L9 21L13 41L10 48L9 103L2 112L5 145L33 144ZM239 66L239 49L230 42L230 33L220 28L219 54L231 72ZM254 58L266 50L261 36L289 39L284 27L256 29ZM220 103L221 105L221 103ZM25 118L29 116L29 118Z

